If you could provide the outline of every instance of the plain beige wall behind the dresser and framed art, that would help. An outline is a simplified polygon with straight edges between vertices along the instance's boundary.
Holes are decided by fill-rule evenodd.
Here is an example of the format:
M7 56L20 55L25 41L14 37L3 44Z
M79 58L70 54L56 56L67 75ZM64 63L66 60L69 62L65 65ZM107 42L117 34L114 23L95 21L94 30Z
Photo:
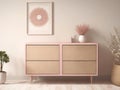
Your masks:
M6 50L8 79L25 79L27 42L70 42L77 24L89 24L89 41L99 43L99 75L110 76L112 57L105 38L120 26L120 0L33 0L54 2L54 35L26 34L26 1L0 0L0 50ZM29 0L32 1L32 0Z

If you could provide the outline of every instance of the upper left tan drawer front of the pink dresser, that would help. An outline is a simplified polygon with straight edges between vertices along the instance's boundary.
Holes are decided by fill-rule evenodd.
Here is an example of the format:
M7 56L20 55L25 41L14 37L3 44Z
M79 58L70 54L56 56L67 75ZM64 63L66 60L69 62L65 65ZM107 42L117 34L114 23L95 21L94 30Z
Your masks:
M59 60L58 45L28 45L26 47L27 60Z

